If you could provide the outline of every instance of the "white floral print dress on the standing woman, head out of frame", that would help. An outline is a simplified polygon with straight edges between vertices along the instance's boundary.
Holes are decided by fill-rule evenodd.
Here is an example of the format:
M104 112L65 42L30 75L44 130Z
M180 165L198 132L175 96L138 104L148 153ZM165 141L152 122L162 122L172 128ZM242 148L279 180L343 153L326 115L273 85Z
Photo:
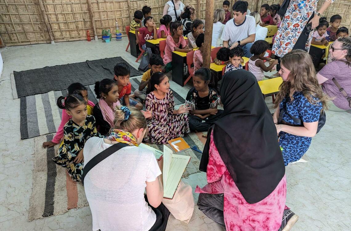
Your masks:
M333 3L334 0L326 0ZM272 47L272 53L283 57L287 52L290 52L298 38L300 37L303 29L310 20L313 12L317 9L318 0L307 0L306 4L309 6L309 10L306 14L302 15L300 9L297 6L298 0L290 0L290 4L283 17L282 24L277 31L276 37ZM310 50L312 41L312 33L308 36L305 50Z

